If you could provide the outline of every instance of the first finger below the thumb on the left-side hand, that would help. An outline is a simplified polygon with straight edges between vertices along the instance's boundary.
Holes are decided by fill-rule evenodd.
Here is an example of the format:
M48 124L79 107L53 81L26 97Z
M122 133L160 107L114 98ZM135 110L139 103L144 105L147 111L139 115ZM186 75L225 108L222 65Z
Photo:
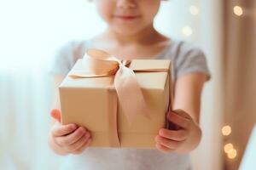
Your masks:
M67 124L61 125L60 123L55 123L55 126L52 128L52 134L55 137L67 135L73 133L78 128L76 124Z

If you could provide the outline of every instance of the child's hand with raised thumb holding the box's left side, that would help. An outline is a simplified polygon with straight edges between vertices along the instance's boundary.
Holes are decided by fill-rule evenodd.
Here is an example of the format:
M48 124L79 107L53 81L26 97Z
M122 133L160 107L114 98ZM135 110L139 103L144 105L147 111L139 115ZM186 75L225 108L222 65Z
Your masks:
M50 115L56 120L49 131L49 144L58 154L81 154L90 144L90 132L76 124L61 124L61 111L52 110Z

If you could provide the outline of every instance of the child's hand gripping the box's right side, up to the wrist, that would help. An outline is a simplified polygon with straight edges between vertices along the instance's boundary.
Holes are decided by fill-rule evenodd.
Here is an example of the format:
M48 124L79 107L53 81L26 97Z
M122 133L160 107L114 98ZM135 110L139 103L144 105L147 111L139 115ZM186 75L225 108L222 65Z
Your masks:
M185 111L176 110L168 113L167 119L179 128L177 130L160 129L155 137L155 147L162 152L179 153L195 149L201 140L201 128L192 117Z

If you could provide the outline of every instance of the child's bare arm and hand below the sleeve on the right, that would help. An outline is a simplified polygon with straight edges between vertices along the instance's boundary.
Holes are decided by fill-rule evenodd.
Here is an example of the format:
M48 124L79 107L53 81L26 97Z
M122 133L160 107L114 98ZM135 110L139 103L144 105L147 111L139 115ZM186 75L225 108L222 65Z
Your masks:
M193 73L177 79L174 104L167 119L179 129L160 129L155 137L156 148L164 152L187 153L194 150L201 141L199 127L201 91L207 76Z

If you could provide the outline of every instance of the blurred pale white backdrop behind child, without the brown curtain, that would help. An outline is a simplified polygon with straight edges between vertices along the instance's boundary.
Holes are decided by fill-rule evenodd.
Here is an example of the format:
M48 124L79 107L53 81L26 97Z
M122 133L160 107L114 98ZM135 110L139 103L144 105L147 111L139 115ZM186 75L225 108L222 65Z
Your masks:
M199 6L200 14L189 14L190 5ZM193 153L198 170L218 170L221 166L219 7L220 0L163 2L155 22L167 36L201 46L212 71L202 99L204 137ZM46 142L53 97L52 79L47 75L49 63L63 43L93 37L106 25L86 0L1 1L0 20L0 169L55 169L59 159ZM183 26L192 28L190 37L183 36Z

